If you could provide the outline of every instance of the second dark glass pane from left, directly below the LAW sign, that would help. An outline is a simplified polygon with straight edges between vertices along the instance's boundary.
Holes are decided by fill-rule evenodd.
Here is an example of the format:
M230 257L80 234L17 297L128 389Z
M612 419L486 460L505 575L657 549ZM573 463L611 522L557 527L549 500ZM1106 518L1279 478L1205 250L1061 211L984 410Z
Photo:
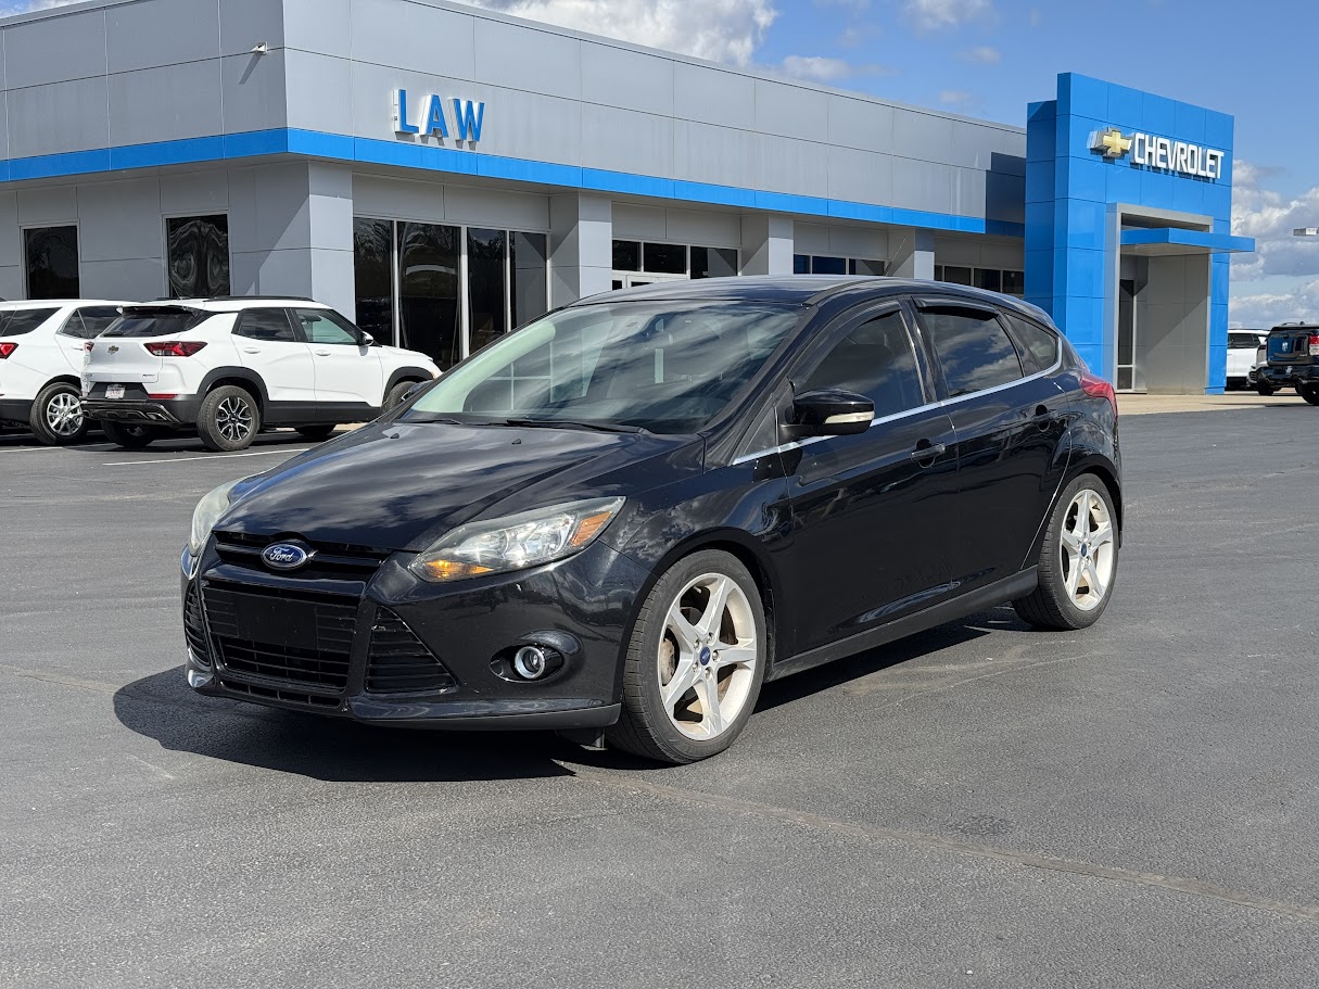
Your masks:
M430 356L441 371L462 360L459 228L398 223L398 343Z

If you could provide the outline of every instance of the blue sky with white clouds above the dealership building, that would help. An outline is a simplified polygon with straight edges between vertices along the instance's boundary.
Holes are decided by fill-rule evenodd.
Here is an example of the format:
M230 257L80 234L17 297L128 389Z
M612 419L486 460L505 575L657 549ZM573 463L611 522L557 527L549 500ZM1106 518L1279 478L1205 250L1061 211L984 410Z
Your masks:
M1319 239L1291 236L1319 225L1316 0L468 1L1017 125L1064 71L1232 113L1235 229L1260 244L1233 261L1232 319L1319 318Z

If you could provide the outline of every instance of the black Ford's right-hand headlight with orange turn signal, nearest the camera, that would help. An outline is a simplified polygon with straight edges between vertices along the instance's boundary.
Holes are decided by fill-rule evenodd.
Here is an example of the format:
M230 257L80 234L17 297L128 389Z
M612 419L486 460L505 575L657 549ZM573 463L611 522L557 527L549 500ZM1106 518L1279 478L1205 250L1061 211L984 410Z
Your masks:
M412 572L438 584L553 563L590 546L619 514L623 502L624 498L574 501L489 522L470 522L414 559Z

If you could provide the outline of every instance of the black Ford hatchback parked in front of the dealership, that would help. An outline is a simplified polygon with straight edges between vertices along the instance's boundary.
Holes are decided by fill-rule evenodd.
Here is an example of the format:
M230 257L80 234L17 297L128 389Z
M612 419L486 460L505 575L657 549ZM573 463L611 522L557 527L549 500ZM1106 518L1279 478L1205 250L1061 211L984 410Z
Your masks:
M202 694L687 762L761 684L1012 603L1079 629L1117 406L1039 310L890 278L584 299L202 500Z

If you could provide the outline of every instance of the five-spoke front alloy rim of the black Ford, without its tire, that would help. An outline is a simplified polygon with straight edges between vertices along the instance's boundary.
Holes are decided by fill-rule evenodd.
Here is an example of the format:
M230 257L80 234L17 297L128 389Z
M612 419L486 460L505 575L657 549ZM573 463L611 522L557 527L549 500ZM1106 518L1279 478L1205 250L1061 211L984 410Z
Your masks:
M719 737L751 696L760 644L747 595L723 574L687 582L669 607L656 657L660 698L689 738Z

